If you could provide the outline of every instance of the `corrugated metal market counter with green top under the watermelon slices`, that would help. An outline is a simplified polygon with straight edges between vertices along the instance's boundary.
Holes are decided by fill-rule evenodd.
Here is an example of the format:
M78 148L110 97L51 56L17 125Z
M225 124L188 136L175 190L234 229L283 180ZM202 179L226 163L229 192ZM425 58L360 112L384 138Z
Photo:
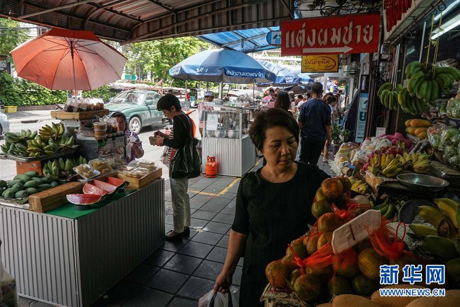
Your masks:
M18 295L91 305L164 242L164 201L159 178L83 211L67 203L37 213L0 202L0 256Z

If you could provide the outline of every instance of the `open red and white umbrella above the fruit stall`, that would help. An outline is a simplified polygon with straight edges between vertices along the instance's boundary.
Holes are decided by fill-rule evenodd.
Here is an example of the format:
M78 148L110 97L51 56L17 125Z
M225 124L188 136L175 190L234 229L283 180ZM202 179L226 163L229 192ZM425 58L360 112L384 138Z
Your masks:
M121 79L126 58L90 31L52 29L17 46L17 75L50 90L94 90Z

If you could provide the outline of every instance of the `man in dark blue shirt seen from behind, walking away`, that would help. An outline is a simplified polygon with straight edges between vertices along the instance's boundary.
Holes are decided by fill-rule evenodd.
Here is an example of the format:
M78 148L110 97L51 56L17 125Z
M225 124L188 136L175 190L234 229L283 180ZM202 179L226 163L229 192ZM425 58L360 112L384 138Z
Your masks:
M331 146L331 108L321 100L323 86L315 82L312 99L303 104L299 114L300 162L316 165L321 151Z

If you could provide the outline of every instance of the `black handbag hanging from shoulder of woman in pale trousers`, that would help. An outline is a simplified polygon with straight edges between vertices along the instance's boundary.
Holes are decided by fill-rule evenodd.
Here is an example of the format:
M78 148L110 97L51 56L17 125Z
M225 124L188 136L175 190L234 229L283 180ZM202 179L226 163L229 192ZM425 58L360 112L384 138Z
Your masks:
M187 125L182 119L182 116L177 116L177 118L187 129ZM184 142L184 146L182 146L176 151L176 154L171 160L171 178L173 179L195 178L200 176L200 157L198 156L198 151L196 151L196 144L198 144L198 139L194 138L192 135L192 124L190 120L188 126L190 136L187 137L187 139Z

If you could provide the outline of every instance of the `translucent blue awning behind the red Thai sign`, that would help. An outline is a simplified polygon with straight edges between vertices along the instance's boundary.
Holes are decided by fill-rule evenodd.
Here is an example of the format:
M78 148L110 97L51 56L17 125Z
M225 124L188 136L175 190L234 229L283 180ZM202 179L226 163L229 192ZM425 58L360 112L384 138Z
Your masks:
M279 48L279 46L270 45L267 41L267 33L271 31L279 31L279 27L234 30L196 37L224 49L249 53Z

